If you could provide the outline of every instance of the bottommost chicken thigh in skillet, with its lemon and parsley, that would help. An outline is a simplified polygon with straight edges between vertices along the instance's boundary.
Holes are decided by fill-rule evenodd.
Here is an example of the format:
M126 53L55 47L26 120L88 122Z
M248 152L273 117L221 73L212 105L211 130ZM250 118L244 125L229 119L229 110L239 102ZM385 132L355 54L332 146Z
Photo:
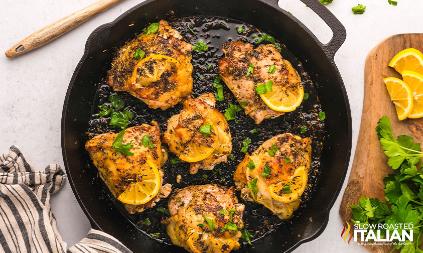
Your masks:
M175 245L193 253L239 248L244 205L238 203L233 187L188 186L169 199L168 207L171 217L163 223Z

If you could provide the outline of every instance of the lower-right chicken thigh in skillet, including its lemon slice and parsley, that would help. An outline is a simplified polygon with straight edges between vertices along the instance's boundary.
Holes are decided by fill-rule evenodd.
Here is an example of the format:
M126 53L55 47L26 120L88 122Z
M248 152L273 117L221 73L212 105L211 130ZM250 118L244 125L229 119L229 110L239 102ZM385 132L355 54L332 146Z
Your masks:
M233 177L241 198L264 205L280 219L291 218L307 186L311 150L309 138L283 134L246 154Z

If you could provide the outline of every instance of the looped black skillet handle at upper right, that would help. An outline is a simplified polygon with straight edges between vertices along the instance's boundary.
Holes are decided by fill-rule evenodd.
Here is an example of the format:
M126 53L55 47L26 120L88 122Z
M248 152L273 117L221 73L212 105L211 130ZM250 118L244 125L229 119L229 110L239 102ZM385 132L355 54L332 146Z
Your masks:
M301 0L306 4L310 9L312 9L332 30L333 36L332 39L327 44L322 44L323 51L326 55L334 60L335 53L344 43L347 38L347 31L341 22L333 15L328 8L326 8L318 0Z

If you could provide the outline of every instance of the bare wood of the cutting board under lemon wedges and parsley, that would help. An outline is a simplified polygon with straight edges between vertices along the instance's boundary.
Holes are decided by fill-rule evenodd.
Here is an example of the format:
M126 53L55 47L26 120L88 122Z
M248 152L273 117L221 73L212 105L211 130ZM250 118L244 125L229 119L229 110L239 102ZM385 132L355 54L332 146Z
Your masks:
M390 76L402 79L393 68L388 67L388 63L395 54L406 48L415 48L423 52L423 34L391 36L379 43L367 55L364 67L364 103L360 132L351 174L339 209L343 223L348 221L351 227L353 227L351 223L353 216L348 204L357 204L361 196L378 198L386 202L385 184L382 179L393 171L387 165L388 159L377 139L375 132L377 121L382 116L388 115L394 137L408 135L412 136L415 142L423 144L423 118L407 118L399 121L383 82L383 78ZM370 252L380 253L390 250L388 246L376 245L367 245L365 248Z

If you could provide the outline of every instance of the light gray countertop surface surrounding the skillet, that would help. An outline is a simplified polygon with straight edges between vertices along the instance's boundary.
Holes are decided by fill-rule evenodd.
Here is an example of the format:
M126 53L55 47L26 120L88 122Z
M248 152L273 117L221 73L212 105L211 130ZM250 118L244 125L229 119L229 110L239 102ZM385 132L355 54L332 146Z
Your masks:
M0 2L0 52L5 52L29 34L94 3L95 0ZM63 167L60 145L63 99L72 73L83 54L86 39L95 28L114 20L139 2L142 1L125 0L61 38L26 55L15 59L0 55L1 153L8 152L11 145L17 145L32 160L37 170L44 170L50 163ZM347 29L347 40L336 54L335 62L345 82L351 104L352 154L360 126L364 61L367 53L390 35L423 33L423 1L398 0L396 7L387 2L334 0L328 6ZM364 15L352 14L350 8L358 3L367 5ZM282 0L279 1L279 6L303 21L322 42L330 40L330 29L299 0ZM301 245L295 252L365 252L362 247L348 245L341 238L342 223L338 210L345 187L346 181L332 208L329 224L323 234ZM90 224L68 182L52 196L51 206L57 218L59 232L68 247L86 235Z

